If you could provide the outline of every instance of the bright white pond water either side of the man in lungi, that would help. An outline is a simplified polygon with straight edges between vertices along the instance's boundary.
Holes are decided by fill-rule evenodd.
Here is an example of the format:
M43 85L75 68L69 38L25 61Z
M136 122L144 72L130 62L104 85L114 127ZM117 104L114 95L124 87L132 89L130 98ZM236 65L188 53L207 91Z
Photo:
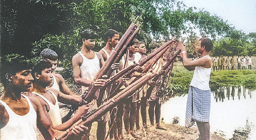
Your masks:
M230 139L234 130L246 129L251 131L249 139L256 139L256 91L225 87L212 92L210 131L224 138ZM187 95L173 97L166 101L161 108L161 117L165 123L171 123L175 116L179 118L179 125L185 125Z

